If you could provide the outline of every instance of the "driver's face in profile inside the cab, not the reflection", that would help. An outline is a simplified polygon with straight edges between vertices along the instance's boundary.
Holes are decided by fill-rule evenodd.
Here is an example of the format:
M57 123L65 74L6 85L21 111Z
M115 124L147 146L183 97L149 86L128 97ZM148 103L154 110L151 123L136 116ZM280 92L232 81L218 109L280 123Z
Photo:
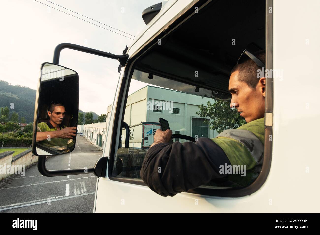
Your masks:
M246 122L264 117L265 110L265 78L260 78L255 88L238 80L238 71L231 74L229 91L232 95L230 107L236 108Z

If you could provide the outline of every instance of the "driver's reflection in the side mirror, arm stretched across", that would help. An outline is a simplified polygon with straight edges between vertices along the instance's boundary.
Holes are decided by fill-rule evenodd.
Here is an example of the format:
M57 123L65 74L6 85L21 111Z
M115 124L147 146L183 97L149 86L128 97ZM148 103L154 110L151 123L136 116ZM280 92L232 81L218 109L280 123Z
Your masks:
M51 102L48 110L50 119L38 123L36 142L55 150L68 150L74 145L72 138L76 136L76 127L61 124L65 115L63 104Z

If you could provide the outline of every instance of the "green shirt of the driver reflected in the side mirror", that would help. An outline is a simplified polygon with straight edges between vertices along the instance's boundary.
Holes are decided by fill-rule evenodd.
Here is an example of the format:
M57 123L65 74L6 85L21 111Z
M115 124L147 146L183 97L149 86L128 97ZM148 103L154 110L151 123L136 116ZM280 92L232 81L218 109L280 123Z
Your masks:
M60 126L60 129L63 129L67 126L63 125ZM50 121L47 122L40 122L38 123L37 131L54 131L57 128L53 127ZM38 142L41 145L53 148L55 150L67 150L72 145L74 145L73 139L64 139L64 138L51 138L50 140L42 140Z

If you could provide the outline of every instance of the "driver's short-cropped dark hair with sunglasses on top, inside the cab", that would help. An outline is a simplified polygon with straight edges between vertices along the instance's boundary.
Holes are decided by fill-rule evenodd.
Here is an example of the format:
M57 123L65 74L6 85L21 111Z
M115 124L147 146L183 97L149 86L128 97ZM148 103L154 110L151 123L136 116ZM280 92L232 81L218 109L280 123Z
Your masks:
M262 63L266 64L265 50L257 51L253 53L253 55L260 59ZM236 64L236 66L231 70L231 74L235 71L238 71L238 80L240 82L247 83L249 87L255 88L260 80L260 78L257 77L257 70L262 70L262 67L258 66L252 59L249 58L249 56L242 56L245 56L247 59L240 64Z

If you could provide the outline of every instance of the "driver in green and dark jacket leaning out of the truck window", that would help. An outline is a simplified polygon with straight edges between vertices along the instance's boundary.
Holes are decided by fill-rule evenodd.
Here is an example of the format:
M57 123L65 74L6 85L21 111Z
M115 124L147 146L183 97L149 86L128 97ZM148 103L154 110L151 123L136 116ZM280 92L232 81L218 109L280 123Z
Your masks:
M228 178L230 173L220 171L225 166L244 166L247 171L261 167L266 79L257 74L262 67L265 51L253 55L245 50L231 71L230 107L236 108L247 124L224 130L213 139L199 138L196 143L183 144L168 143L171 130L156 130L140 170L141 179L154 192L174 196L212 180Z

